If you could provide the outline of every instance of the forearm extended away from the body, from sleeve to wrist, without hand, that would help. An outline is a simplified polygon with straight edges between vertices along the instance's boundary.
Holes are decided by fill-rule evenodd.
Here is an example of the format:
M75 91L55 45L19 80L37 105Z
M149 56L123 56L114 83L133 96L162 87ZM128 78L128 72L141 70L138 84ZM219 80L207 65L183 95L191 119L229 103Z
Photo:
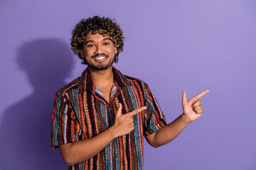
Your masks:
M154 147L160 147L174 140L188 125L186 115L181 114L172 123L165 125L154 135Z

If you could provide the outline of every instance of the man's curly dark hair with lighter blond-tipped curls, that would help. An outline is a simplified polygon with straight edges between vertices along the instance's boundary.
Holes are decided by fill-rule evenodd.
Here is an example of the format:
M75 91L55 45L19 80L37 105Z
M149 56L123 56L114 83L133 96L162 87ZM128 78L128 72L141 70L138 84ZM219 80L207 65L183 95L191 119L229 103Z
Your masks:
M72 38L70 45L73 52L75 52L81 60L82 64L86 64L85 60L80 55L83 42L87 33L91 31L92 34L100 33L100 35L108 35L117 47L117 56L122 52L124 47L124 36L120 26L114 23L110 18L94 16L92 18L81 19L72 31Z

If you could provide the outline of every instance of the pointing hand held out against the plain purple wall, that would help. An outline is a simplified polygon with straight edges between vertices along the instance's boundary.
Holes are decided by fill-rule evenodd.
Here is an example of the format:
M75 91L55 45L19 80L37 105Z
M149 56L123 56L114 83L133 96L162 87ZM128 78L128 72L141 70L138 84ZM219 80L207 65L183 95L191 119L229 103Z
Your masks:
M201 101L198 101L203 95L207 94L209 90L205 90L195 97L191 98L189 101L186 99L186 92L183 91L182 95L182 107L183 114L186 115L188 119L188 123L193 122L194 120L201 117L203 114L203 106L201 105Z

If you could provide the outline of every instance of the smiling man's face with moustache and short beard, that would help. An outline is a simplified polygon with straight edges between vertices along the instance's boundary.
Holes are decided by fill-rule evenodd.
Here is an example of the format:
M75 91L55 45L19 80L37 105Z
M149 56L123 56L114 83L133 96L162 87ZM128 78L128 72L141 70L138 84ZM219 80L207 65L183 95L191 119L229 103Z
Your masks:
M107 35L88 33L80 53L88 67L102 70L112 66L117 47L114 46L114 42Z

